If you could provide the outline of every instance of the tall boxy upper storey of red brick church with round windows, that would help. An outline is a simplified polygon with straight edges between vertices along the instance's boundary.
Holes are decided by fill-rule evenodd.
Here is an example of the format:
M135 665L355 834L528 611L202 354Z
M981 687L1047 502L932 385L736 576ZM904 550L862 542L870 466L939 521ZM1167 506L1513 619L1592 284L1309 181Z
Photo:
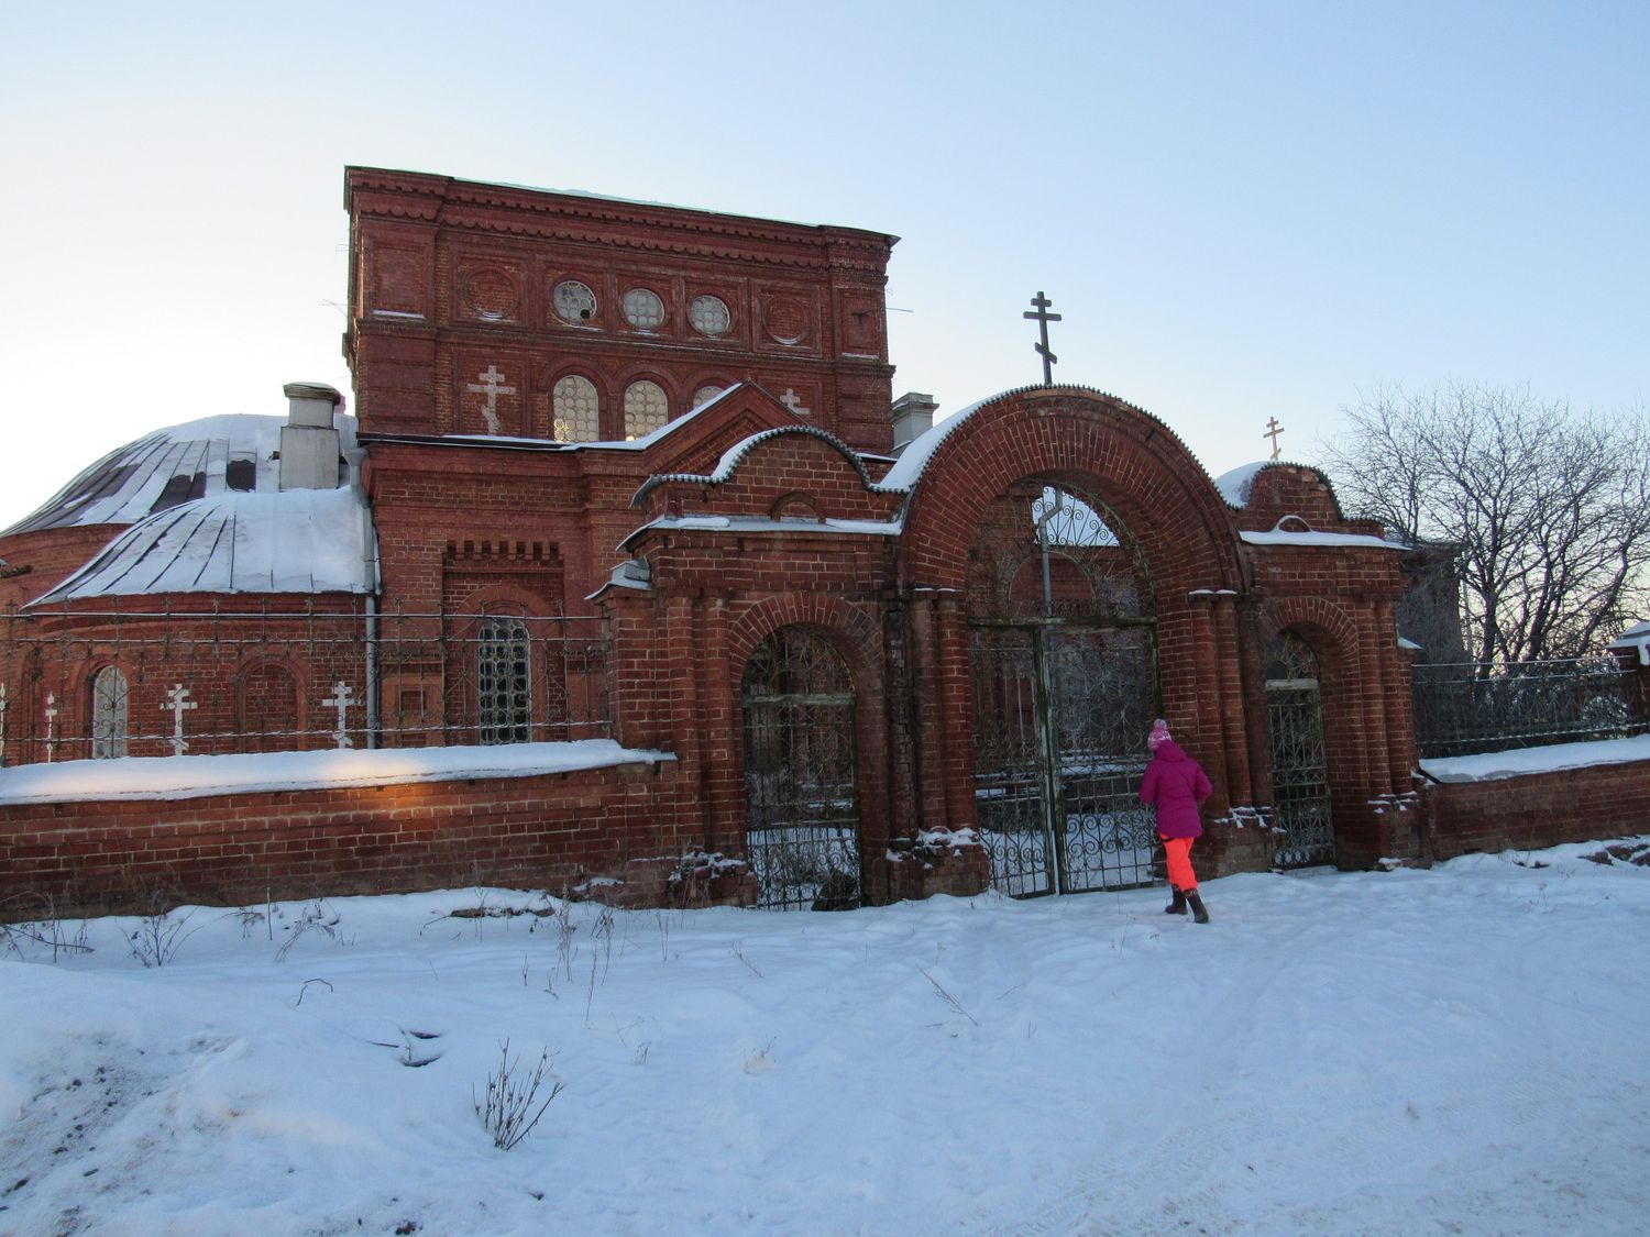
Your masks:
M345 206L366 442L627 442L747 383L893 445L893 236L360 167Z

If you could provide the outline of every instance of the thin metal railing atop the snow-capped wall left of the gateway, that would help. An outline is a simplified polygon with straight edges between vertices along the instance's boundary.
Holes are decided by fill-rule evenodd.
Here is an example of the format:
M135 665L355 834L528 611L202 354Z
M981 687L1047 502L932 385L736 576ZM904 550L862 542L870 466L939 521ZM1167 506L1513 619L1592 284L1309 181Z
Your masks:
M0 615L0 764L609 737L597 617Z

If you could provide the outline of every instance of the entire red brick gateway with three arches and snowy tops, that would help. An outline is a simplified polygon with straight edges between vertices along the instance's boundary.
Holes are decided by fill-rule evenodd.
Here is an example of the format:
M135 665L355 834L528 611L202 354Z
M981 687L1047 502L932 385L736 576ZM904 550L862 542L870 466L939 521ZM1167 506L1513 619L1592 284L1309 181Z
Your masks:
M1284 630L1318 653L1333 859L1402 851L1398 556L1318 473L1223 490L1160 421L1077 388L965 409L891 467L813 426L716 447L644 487L625 548L647 584L601 595L652 663L698 668L653 714L672 729L630 741L681 755L683 828L747 866L747 901L1150 884L1158 716L1214 785L1203 874L1304 861L1277 831L1302 772L1274 777L1299 745L1267 709ZM620 699L645 713L658 681Z

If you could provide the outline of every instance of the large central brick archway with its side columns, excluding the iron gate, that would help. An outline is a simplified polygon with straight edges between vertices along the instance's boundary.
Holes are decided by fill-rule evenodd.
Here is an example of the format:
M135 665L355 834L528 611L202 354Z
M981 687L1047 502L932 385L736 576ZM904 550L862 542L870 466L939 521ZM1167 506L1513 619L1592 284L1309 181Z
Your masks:
M1117 520L1112 531L1138 556L1148 586L1163 716L1209 772L1216 787L1211 811L1226 810L1233 785L1247 797L1244 703L1236 673L1226 673L1238 663L1238 635L1231 623L1211 618L1206 604L1216 595L1247 594L1247 566L1231 508L1173 430L1114 396L1033 388L959 417L921 467L903 463L889 475L889 483L911 485L899 543L901 584L952 592L964 610L974 587L970 551L998 495L1040 480L1104 505L1107 523ZM940 744L957 762L952 785L967 785L978 775L977 706L969 689L977 668L960 622L936 642ZM1148 726L1140 731L1142 752ZM1234 765L1239 774L1231 772ZM975 803L955 788L949 811L954 820L978 818Z

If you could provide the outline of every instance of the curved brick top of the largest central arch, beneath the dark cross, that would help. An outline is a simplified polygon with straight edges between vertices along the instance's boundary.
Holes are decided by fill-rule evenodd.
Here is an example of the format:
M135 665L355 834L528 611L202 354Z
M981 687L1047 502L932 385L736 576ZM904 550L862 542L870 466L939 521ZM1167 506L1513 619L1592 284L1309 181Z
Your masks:
M1086 480L1129 523L1170 589L1183 581L1244 590L1231 513L1191 452L1150 414L1072 389L1006 396L940 444L908 505L903 546L912 576L964 587L987 505L1038 475Z

